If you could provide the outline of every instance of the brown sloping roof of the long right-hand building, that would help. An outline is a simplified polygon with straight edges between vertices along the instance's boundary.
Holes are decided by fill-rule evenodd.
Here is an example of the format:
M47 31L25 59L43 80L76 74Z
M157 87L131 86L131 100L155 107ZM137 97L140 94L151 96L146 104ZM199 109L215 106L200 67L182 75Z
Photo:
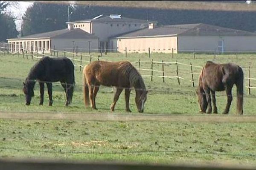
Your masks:
M128 34L115 36L116 38L125 37L155 37L167 35L186 35L186 36L256 36L255 33L236 30L231 28L223 28L207 24L183 24L172 26L160 26L153 29L143 28Z

